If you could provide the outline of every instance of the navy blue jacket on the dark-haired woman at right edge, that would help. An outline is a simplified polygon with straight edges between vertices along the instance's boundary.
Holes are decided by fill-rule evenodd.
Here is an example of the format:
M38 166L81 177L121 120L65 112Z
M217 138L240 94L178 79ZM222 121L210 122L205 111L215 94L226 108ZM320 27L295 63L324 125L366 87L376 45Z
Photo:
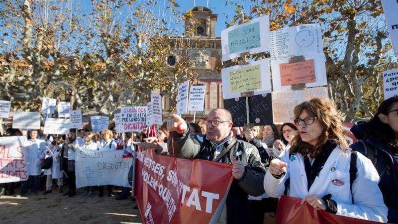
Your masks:
M357 139L362 139L367 144L368 150L376 148L376 169L380 175L379 187L383 193L384 204L389 209L388 223L398 224L398 170L396 162L394 162L394 156L391 155L386 143L376 142L371 137L364 138L367 126L367 122L360 122L351 128L351 132ZM365 147L361 142L356 142L350 147L366 156ZM370 159L375 160L375 158Z

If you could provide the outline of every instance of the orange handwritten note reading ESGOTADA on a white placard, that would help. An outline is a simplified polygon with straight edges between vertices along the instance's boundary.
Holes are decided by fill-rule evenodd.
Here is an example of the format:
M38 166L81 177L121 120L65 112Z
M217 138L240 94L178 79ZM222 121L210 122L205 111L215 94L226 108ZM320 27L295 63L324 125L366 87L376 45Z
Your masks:
M279 64L281 71L281 86L315 82L314 60L296 63Z

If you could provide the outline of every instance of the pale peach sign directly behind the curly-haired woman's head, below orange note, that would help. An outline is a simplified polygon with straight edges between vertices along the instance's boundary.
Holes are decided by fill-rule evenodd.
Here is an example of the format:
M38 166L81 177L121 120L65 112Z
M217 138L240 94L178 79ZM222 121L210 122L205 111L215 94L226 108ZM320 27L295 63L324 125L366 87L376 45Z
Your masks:
M311 98L328 98L326 87L308 88L297 91L281 91L272 93L272 107L274 109L274 122L292 122L295 118L294 108Z

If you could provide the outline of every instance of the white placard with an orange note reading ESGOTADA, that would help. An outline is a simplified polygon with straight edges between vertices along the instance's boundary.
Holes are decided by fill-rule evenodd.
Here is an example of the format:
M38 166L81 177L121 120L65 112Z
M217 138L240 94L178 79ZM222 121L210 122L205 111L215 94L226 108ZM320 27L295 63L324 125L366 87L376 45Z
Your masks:
M312 60L312 65L307 66L305 63ZM292 85L283 85L286 80L291 80L291 82L305 83L305 87L317 87L326 86L326 59L322 55L314 55L305 57L305 62L296 62L289 64L289 59L272 61L271 71L272 71L272 84L274 91L291 90ZM283 74L281 74L281 66L284 67ZM302 75L302 71L310 67L312 71L310 75ZM290 70L290 72L286 72ZM300 74L301 76L298 76Z

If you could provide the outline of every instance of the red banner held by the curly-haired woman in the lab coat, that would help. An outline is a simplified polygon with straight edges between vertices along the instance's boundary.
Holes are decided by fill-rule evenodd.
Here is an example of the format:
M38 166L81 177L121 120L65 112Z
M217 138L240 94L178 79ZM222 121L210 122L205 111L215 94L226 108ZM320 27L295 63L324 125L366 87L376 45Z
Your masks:
M301 199L282 196L279 200L276 221L277 224L378 224L378 222L360 220L339 216L315 210L308 203L300 205Z

